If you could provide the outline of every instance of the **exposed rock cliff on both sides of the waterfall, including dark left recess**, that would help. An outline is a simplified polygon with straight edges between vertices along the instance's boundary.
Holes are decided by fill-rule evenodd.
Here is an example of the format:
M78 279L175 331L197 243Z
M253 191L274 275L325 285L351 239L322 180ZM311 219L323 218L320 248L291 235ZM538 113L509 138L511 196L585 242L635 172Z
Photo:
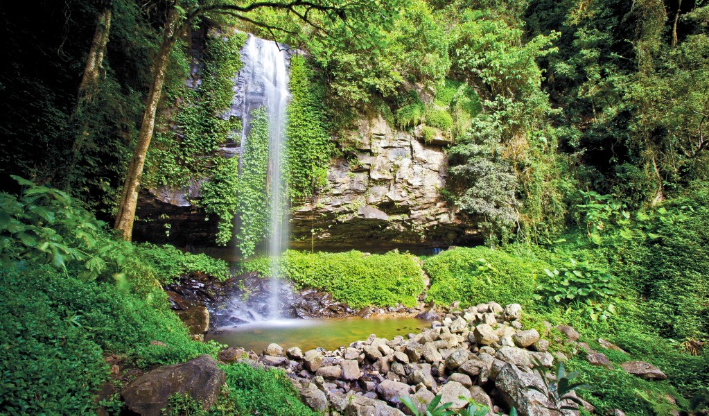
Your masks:
M480 239L474 221L458 215L440 193L447 179L445 137L433 137L427 144L416 133L393 130L379 116L360 120L340 140L349 157L333 161L320 195L291 209L291 247L378 251ZM206 220L191 204L194 199L199 199L199 183L143 193L135 239L213 245L216 220Z

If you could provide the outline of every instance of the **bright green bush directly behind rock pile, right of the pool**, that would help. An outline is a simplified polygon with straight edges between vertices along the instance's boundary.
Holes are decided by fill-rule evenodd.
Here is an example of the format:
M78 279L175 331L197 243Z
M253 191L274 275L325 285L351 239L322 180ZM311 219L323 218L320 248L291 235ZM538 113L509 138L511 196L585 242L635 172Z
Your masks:
M460 300L476 305L494 300L501 304L529 305L537 286L537 274L548 265L518 259L486 247L446 250L426 259L423 269L431 278L428 298L438 304Z

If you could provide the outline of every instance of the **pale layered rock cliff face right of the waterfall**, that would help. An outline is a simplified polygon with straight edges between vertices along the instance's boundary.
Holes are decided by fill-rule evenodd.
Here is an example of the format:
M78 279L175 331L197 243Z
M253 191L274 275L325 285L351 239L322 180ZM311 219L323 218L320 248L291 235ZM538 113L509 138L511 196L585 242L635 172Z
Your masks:
M381 116L345 133L347 159L336 159L328 186L293 209L294 247L330 249L442 247L477 238L440 190L447 144L393 130Z

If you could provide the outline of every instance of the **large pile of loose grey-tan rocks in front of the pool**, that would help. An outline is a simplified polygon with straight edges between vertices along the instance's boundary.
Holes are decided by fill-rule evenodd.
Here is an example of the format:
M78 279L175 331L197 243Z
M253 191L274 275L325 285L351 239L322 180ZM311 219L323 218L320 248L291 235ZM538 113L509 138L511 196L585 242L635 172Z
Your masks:
M539 391L545 383L532 371L537 363L554 363L549 342L537 330L523 330L521 314L518 304L485 303L449 313L408 338L370 335L335 351L291 348L284 353L271 344L258 361L289 373L302 400L320 411L403 415L408 409L401 397L411 396L425 408L440 394L453 409L473 399L493 412L514 406L520 415L559 415L547 409L551 404ZM235 350L220 359L242 355Z

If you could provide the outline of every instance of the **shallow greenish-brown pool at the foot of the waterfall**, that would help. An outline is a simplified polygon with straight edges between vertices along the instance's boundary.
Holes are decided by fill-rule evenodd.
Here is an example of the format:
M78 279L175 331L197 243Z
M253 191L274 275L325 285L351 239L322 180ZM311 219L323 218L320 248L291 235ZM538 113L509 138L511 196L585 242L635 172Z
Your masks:
M214 339L230 347L252 349L259 354L272 342L284 349L300 347L306 351L323 347L333 350L354 341L364 341L370 334L392 339L396 335L406 337L409 333L417 334L429 326L430 322L413 317L274 320L209 332L206 339Z

